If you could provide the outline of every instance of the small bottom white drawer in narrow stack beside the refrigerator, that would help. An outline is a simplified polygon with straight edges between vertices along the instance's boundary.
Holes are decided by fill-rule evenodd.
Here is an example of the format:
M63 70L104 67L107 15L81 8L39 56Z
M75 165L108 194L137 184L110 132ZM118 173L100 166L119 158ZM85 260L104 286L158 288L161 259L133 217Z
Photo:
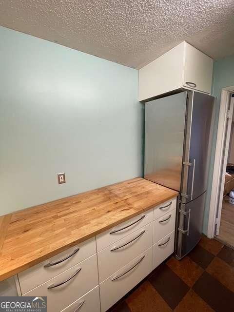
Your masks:
M175 231L153 245L153 270L174 252Z

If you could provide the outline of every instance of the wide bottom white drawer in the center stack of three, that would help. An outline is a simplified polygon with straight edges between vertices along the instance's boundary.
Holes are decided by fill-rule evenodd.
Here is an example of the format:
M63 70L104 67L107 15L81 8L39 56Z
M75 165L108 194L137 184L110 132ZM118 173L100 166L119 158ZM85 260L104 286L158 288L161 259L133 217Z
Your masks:
M101 311L108 310L151 271L152 247L100 284Z

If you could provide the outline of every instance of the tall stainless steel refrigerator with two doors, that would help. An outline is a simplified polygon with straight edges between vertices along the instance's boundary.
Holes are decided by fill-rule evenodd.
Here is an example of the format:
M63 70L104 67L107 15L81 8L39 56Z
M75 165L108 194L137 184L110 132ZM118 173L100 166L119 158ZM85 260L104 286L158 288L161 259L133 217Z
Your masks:
M179 191L176 256L202 234L215 98L185 91L145 105L145 169L148 180Z

